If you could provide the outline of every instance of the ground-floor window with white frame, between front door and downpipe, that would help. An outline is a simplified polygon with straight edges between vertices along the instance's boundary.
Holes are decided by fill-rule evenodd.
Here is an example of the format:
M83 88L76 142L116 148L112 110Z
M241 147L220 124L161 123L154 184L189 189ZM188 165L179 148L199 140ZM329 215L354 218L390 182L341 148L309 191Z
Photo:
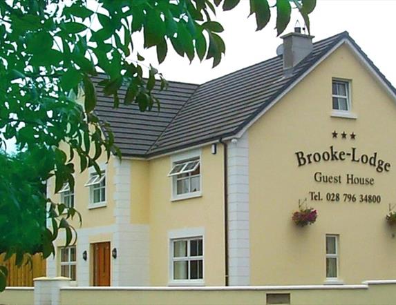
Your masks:
M202 237L172 239L172 279L194 281L203 279Z

